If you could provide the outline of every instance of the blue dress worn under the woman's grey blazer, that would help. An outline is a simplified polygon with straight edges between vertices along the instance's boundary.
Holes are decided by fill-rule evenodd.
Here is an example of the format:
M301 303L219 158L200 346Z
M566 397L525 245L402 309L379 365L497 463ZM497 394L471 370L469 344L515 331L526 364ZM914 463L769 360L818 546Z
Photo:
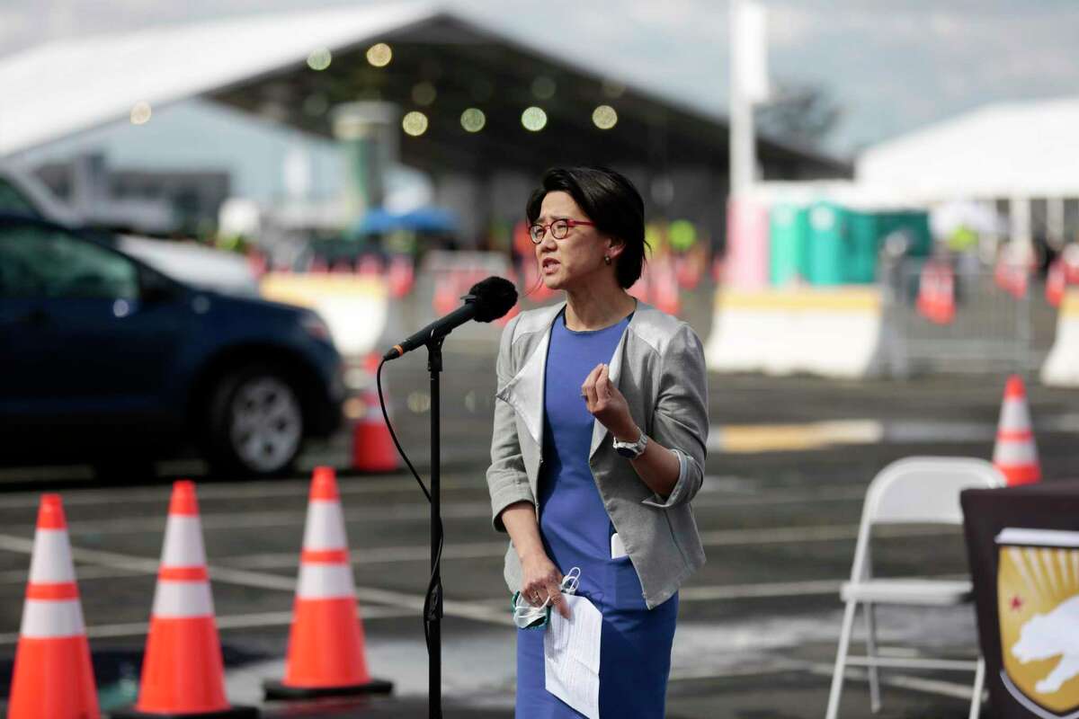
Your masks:
M611 362L628 324L629 317L602 330L574 332L563 315L555 320L544 382L540 534L563 575L581 567L577 594L603 614L600 716L661 719L678 594L650 611L629 557L611 558L615 529L588 466L595 417L581 398L585 377ZM517 719L582 717L544 687L545 631L517 630Z

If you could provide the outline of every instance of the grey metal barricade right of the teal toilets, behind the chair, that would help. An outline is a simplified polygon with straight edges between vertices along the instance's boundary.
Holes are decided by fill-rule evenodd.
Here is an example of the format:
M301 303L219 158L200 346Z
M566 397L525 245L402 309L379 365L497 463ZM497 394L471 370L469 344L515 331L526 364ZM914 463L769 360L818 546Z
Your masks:
M918 312L925 260L882 265L885 323L891 333L893 375L937 372L1036 371L1052 342L1055 313L1043 282L1032 277L1015 296L976 260L953 261L954 317L933 322Z

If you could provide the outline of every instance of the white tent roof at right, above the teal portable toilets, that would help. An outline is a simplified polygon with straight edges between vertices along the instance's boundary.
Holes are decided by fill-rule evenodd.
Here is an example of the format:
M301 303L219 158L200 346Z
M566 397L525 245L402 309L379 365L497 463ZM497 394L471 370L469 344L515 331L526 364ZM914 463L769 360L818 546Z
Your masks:
M1005 102L865 150L861 184L917 202L1079 197L1079 98Z

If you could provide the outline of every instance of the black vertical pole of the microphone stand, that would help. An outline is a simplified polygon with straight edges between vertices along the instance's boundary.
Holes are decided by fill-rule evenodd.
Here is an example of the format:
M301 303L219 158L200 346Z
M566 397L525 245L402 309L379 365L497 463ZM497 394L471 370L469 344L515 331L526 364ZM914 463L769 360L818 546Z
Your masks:
M431 594L427 608L427 703L429 719L442 719L442 578L439 568L439 547L442 543L442 520L439 501L439 468L441 435L438 375L442 371L442 341L446 335L427 342L427 371L431 373Z

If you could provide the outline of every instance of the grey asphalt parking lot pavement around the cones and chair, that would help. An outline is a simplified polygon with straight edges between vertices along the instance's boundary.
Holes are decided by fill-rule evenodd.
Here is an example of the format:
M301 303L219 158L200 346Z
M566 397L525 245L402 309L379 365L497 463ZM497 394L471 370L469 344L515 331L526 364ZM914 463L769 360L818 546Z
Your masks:
M429 397L422 352L387 365L395 425L426 474ZM447 717L510 717L514 631L502 582L505 537L490 525L483 480L493 395L489 355L448 347L443 375L443 695ZM694 510L708 564L682 590L668 717L821 717L865 486L916 454L988 458L1003 376L903 382L712 376L707 480ZM1047 481L1079 478L1079 392L1030 387ZM345 462L341 440L303 457ZM68 516L103 709L135 695L167 510L169 480L197 482L230 699L265 716L425 717L427 658L420 607L427 582L427 506L405 473L342 472L340 487L371 674L388 697L285 706L261 701L279 678L303 531L308 475L210 481L197 464L162 464L138 485L80 467L0 471L0 685L18 638L30 540L42 490ZM966 571L954 529L905 527L878 538L882 573ZM972 655L969 609L883 608L886 647ZM888 651L888 649L886 649ZM900 651L896 649L894 651ZM885 673L879 717L966 717L956 674ZM6 688L0 686L0 690ZM870 717L851 673L844 717Z

